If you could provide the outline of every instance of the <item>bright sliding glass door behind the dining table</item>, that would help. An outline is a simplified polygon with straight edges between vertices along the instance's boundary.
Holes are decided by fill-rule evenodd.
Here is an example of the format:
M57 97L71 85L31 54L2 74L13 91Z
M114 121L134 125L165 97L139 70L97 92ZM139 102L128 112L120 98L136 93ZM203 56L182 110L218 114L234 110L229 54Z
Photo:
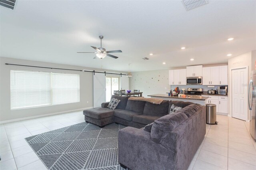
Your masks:
M110 101L114 90L119 90L119 77L106 77L106 101Z

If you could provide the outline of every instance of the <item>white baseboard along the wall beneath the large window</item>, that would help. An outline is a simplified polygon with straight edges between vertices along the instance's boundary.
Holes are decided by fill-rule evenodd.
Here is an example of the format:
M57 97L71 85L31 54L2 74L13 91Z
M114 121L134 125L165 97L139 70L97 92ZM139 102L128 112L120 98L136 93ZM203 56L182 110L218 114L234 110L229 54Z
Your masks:
M82 110L87 110L87 109L93 109L93 107L85 107L85 108L80 108L80 109L73 109L73 110L56 112L56 113L49 113L49 114L44 114L44 115L36 115L36 116L23 117L23 118L18 118L18 119L11 119L11 120L7 120L7 121L0 121L0 124L10 123L10 122L17 122L17 121L24 121L24 120L27 120L27 119L34 119L34 118L38 118L38 117L45 117L45 116L51 116L51 115L59 115L59 114L62 114L62 113L82 111Z

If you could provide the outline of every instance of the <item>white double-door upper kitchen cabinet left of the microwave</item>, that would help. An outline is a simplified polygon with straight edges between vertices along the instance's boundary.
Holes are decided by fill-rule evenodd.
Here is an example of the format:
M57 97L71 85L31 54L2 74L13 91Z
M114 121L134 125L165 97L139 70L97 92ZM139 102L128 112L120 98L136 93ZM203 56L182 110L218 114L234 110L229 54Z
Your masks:
M186 85L186 82L186 69L169 70L170 85Z

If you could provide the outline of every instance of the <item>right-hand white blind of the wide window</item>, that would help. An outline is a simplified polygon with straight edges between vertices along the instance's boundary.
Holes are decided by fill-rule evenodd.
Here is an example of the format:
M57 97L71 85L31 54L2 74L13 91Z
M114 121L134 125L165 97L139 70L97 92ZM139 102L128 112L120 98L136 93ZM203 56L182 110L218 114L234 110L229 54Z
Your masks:
M52 104L79 102L79 75L52 73Z

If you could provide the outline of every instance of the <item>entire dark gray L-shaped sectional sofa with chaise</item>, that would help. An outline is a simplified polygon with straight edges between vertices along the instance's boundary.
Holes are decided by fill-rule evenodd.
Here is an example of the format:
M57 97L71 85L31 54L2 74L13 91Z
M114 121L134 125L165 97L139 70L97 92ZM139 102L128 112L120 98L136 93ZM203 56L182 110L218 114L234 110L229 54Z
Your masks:
M145 101L120 99L115 110L85 110L85 121L103 127L120 123L128 127L118 132L118 162L132 170L186 170L206 133L206 107L190 102L162 101L155 105ZM172 104L182 107L168 114ZM154 123L153 123L154 122ZM149 130L142 127L153 123Z

